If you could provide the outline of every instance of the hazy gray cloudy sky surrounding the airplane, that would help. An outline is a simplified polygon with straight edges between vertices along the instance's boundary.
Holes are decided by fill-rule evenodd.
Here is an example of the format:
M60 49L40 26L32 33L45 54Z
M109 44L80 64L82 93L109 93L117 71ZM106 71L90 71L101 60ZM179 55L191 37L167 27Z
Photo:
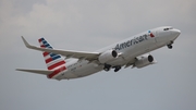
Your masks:
M195 110L195 0L0 0L0 110ZM14 71L46 69L28 50L45 37L54 48L94 51L144 30L181 29L158 64L53 81Z

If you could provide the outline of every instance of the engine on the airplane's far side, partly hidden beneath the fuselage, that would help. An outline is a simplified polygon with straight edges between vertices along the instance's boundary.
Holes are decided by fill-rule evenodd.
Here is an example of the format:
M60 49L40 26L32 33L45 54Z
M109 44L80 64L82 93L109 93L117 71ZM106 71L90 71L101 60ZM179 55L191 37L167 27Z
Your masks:
M135 62L135 66L139 69L139 68L144 68L144 66L147 66L147 65L154 64L154 63L156 63L156 61L154 60L154 57L148 54L148 56L144 56L140 59L138 59Z

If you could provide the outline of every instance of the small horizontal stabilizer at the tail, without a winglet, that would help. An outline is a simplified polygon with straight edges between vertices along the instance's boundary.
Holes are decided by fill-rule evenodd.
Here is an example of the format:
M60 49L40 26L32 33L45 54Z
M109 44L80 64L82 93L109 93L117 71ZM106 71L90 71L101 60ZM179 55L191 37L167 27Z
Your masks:
M25 69L16 69L16 71L37 73L37 74L42 74L42 75L48 75L53 72L53 71L46 71L46 70L25 70Z

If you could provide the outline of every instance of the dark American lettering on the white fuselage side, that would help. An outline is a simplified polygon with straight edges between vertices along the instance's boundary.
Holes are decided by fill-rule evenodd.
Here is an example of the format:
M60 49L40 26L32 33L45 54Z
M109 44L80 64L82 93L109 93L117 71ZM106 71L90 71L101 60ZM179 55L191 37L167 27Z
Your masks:
M121 50L121 49L125 49L127 47L131 47L133 45L136 45L138 42L142 42L144 40L148 40L148 36L147 34L143 35L143 36L139 36L139 37L134 37L133 39L131 40L127 40L127 41L124 41L122 44L118 44L114 48L114 50Z

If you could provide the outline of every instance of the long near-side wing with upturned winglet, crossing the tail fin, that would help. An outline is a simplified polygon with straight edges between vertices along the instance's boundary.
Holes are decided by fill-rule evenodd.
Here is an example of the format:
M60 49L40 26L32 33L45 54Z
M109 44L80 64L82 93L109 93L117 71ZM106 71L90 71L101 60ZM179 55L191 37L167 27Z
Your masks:
M72 51L72 50L58 50L58 49L46 49L46 48L40 48L36 46L29 45L25 38L22 36L22 39L25 44L25 46L29 49L38 50L38 51L47 51L47 52L52 52L57 54L64 56L66 58L76 58L76 59L86 59L89 61L97 60L99 57L99 52L86 52L86 51Z

